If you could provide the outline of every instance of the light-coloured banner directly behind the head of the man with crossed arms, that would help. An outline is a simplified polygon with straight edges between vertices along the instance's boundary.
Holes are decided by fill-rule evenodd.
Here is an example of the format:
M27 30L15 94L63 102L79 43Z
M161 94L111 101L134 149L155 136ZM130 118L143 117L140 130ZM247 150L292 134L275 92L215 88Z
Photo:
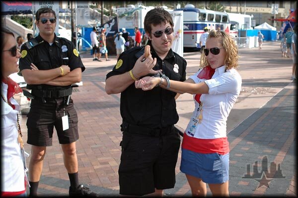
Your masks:
M55 34L59 36L59 1L32 1L32 6L33 6L33 15L35 18L35 13L39 8L42 7L50 7L53 9L56 13L56 28L55 28ZM35 19L36 20L36 19ZM33 21L33 32L34 32L34 37L38 36L39 29L35 24L35 21Z

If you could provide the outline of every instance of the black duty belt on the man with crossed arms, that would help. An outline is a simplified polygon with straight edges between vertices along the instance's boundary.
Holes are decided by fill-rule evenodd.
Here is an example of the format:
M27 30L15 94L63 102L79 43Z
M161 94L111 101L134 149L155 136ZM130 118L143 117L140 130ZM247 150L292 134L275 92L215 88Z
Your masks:
M62 98L72 95L72 87L64 90L32 89L31 94L39 98Z

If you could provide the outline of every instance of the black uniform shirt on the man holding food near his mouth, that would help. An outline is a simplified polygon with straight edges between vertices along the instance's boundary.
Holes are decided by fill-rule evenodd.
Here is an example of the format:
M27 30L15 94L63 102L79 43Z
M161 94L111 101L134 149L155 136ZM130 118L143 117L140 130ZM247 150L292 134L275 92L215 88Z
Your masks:
M150 41L148 44L151 45ZM157 59L153 70L162 69L162 73L172 80L184 81L186 79L186 61L182 57L170 50L162 61L152 46L150 46L150 49L152 58ZM135 47L123 52L116 66L107 74L106 78L131 70L137 59L143 54L144 48L142 47ZM174 65L176 68L177 66L179 67L178 70L174 69ZM151 129L160 129L174 125L179 119L176 111L175 96L175 92L161 87L143 91L142 89L137 89L135 83L132 83L121 93L120 113L122 119L127 123Z

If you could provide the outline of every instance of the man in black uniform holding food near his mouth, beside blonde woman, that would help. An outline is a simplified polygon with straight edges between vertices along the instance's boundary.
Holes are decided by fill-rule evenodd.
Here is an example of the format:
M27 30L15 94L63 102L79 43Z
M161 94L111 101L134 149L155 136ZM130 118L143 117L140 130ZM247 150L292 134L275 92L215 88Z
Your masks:
M186 79L186 61L171 50L173 26L169 12L150 10L144 27L151 54L144 60L142 47L125 51L106 76L107 94L121 93L121 195L162 197L164 189L175 185L180 147L180 136L174 128L179 119L176 93L160 87L143 91L135 86L140 77L156 76L161 69L170 79Z

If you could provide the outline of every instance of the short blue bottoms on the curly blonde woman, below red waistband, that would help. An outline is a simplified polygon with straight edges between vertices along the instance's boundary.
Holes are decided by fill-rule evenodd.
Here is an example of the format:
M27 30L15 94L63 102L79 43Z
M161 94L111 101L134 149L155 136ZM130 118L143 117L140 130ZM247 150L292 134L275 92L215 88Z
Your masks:
M196 153L182 148L180 171L201 178L207 184L222 184L228 181L229 153Z

